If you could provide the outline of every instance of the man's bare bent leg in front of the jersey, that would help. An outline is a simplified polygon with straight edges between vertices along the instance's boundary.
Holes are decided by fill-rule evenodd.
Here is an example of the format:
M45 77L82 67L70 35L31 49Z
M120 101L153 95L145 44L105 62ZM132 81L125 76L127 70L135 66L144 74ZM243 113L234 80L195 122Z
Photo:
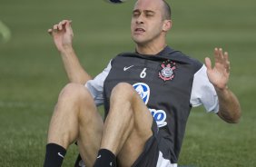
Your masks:
M117 84L113 88L110 111L103 126L101 149L113 152L119 165L132 166L143 152L145 142L153 135L152 123L152 114L133 86Z

